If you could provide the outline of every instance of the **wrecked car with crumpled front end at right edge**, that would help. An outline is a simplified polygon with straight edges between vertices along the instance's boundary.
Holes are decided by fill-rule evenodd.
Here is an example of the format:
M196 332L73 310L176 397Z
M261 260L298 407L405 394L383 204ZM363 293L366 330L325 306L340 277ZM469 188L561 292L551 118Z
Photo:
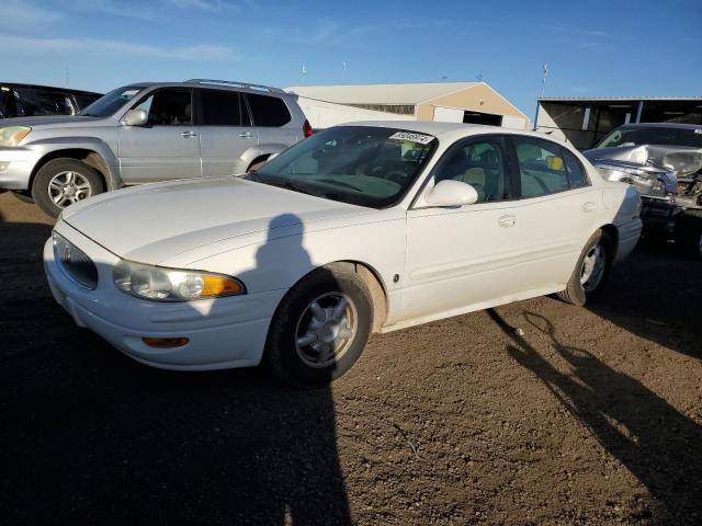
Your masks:
M702 258L702 126L627 124L584 155L604 179L639 191L646 233Z

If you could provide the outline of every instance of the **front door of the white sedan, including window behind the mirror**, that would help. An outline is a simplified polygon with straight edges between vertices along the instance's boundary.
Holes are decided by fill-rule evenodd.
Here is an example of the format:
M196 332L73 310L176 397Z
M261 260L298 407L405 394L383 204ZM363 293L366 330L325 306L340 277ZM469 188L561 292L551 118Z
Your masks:
M501 136L458 144L439 162L429 185L463 181L476 188L478 202L407 213L403 319L483 308L514 289L521 227L509 167Z

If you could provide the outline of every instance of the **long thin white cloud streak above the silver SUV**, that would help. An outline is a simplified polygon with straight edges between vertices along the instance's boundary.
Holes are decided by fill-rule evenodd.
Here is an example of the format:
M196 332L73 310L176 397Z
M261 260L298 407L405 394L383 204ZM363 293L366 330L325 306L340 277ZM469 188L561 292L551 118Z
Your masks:
M210 44L185 47L162 47L124 41L97 38L27 38L0 34L0 47L15 53L56 54L84 53L91 55L129 55L176 60L227 60L235 58L230 48Z

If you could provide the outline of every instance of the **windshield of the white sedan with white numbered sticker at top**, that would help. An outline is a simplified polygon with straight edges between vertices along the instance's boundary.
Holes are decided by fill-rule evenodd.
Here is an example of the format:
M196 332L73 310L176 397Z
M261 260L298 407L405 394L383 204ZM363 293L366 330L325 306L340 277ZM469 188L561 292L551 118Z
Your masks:
M416 132L338 126L288 148L248 179L384 208L403 198L437 145L435 137Z

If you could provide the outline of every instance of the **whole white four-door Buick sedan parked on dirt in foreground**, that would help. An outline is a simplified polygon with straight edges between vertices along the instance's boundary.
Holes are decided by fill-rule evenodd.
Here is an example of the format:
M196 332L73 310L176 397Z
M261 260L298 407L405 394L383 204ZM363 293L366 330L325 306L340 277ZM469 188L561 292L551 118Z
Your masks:
M44 250L57 301L133 358L268 364L329 381L387 332L557 293L584 305L641 232L639 198L544 136L359 123L244 178L70 206Z

